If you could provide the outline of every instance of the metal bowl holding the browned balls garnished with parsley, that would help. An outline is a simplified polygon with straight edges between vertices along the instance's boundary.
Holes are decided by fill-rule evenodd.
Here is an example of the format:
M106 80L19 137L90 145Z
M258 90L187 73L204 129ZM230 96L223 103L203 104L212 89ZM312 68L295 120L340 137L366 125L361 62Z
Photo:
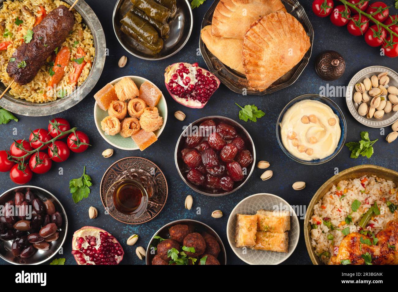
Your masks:
M191 225L194 228L193 232L199 232L199 233L207 232L211 236L215 237L217 242L220 245L220 253L219 253L219 256L217 257L217 259L219 260L221 265L226 265L226 251L225 251L225 247L221 241L220 236L209 225L202 223L200 221L197 221L197 220L192 220L192 219L182 219L182 220L172 221L172 222L164 225L158 231L156 231L156 233L150 239L150 241L148 243L148 247L146 248L145 261L146 261L147 265L152 265L152 259L155 256L155 254L153 252L151 252L153 250L153 247L155 246L154 245L154 237L160 236L164 239L169 238L170 237L169 228L174 225L177 225L177 224Z

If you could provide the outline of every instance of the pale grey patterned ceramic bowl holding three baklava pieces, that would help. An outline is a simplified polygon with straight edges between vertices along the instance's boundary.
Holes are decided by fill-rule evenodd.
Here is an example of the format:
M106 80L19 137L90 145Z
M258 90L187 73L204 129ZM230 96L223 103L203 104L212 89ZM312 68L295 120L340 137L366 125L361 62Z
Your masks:
M280 207L282 206L282 211L289 210L291 215L290 230L288 231L289 252L282 253L247 248L245 249L246 253L244 253L242 248L237 248L235 246L236 214L254 215L260 209L275 210L275 206L279 207L279 210L281 210ZM270 193L257 193L244 198L232 210L226 226L226 235L231 249L234 251L236 256L245 263L248 263L249 265L278 265L289 258L293 251L295 251L298 238L300 236L300 224L295 211L287 201Z

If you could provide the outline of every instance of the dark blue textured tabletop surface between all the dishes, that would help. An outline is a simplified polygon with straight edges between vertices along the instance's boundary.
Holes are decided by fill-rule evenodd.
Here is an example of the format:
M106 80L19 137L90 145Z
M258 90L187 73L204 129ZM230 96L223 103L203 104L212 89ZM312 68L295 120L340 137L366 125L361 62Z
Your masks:
M294 85L272 95L263 97L242 96L233 93L221 85L205 108L201 110L186 108L168 96L164 86L163 72L166 66L174 62L199 62L200 66L205 66L201 56L197 56L197 48L199 46L200 24L203 15L211 4L211 0L207 0L205 4L193 10L193 32L186 46L178 54L169 59L152 62L140 60L129 55L117 42L112 29L112 10L116 0L86 1L98 15L105 30L107 48L109 48L110 55L106 58L105 68L93 92L78 105L56 116L68 119L72 126L76 126L79 130L88 133L93 146L82 154L72 154L67 162L61 164L55 163L49 173L40 176L35 175L29 183L51 191L59 198L68 213L70 229L68 238L63 247L64 255L62 255L62 257L66 257L66 264L75 263L70 254L72 234L82 226L98 226L111 232L121 242L125 250L123 264L144 264L144 261L140 261L135 255L135 247L143 246L146 248L154 232L161 226L172 220L184 218L196 219L211 226L224 242L228 263L242 264L243 262L234 255L226 240L226 222L230 211L244 197L254 193L268 192L283 197L283 199L288 201L291 205L306 206L316 190L318 190L328 178L334 175L334 168L336 167L339 168L339 170L344 170L351 166L371 163L394 170L398 169L396 159L398 142L388 145L385 141L385 136L380 136L379 129L367 128L359 124L359 122L356 122L351 114L349 114L343 96L331 98L340 106L341 110L343 110L347 120L347 141L358 141L359 133L363 130L369 131L371 139L380 139L380 141L375 144L375 154L371 159L363 157L350 159L349 150L344 147L339 155L332 161L318 166L306 166L291 160L280 149L275 137L275 126L279 113L285 104L298 95L319 93L320 87L326 86L326 82L320 79L314 70L315 59L320 52L324 50L336 50L342 54L347 63L347 69L344 75L337 81L330 82L330 86L347 85L351 77L357 71L367 66L382 65L395 71L398 70L398 59L380 56L378 48L368 47L361 37L349 35L345 27L334 27L328 18L321 19L314 16L311 10L312 1L301 1L315 30L312 57L310 63ZM394 14L397 13L397 10L392 9L392 11ZM121 69L117 66L117 62L122 55L127 56L128 62L127 66ZM144 152L115 149L113 157L104 159L101 156L101 152L111 147L101 138L94 125L93 95L108 81L124 75L139 75L158 85L166 97L169 118L160 139ZM245 104L256 104L259 109L266 113L257 123L242 122L242 124L246 127L254 140L258 160L267 160L271 163L269 169L273 170L273 177L265 182L261 181L259 178L261 170L256 168L244 188L231 195L226 197L207 197L195 193L182 182L174 164L174 147L178 136L182 132L182 127L184 125L203 116L217 114L238 120L239 108L234 105L234 102L238 102L241 106ZM186 114L187 118L184 122L179 122L174 118L173 114L176 110L182 110ZM0 136L2 137L2 141L0 147L8 148L12 143L12 139L27 138L30 133L29 128L32 130L36 128L46 128L49 118L54 118L56 116L40 118L18 116L20 119L18 123L10 122L7 125L1 125ZM13 128L17 129L18 135L13 136ZM389 133L390 127L386 128L385 131L386 134ZM109 215L105 215L99 195L100 181L105 170L113 162L127 156L141 156L156 163L166 175L169 186L168 200L162 213L154 220L136 226L123 224ZM92 177L94 185L91 187L91 194L88 199L74 204L68 190L69 180L71 178L80 177L84 165L86 165L87 174ZM63 175L58 174L59 167L63 168ZM2 181L1 192L15 186L15 184L10 181L8 173L1 173L0 179ZM305 181L307 186L302 191L293 191L291 185L298 180ZM184 199L185 196L189 194L191 194L194 199L191 211L184 209ZM94 220L88 217L88 208L90 206L97 207L99 211L98 217ZM196 215L194 210L197 207L201 208L201 215ZM224 212L224 217L221 219L213 219L211 217L211 212L216 209L222 210ZM285 264L311 263L302 233L303 220L300 220L300 224L300 241L295 252L285 261ZM134 233L140 236L138 243L133 247L127 246L125 244L127 238ZM4 264L5 262L0 260L0 263Z

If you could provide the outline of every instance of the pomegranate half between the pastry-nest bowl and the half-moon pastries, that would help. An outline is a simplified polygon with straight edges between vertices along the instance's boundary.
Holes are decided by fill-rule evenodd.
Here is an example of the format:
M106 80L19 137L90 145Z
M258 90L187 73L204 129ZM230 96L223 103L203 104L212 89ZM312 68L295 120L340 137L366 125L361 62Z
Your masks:
M189 108L203 108L220 86L220 80L198 63L168 66L164 83L173 99Z

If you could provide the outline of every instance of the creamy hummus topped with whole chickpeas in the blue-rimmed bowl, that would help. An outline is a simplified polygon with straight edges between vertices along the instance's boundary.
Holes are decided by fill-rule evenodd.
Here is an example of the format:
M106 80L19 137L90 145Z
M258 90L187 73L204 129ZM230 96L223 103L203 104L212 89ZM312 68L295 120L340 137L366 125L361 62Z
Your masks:
M297 102L285 112L280 127L287 151L305 161L332 155L341 136L338 116L320 101Z

